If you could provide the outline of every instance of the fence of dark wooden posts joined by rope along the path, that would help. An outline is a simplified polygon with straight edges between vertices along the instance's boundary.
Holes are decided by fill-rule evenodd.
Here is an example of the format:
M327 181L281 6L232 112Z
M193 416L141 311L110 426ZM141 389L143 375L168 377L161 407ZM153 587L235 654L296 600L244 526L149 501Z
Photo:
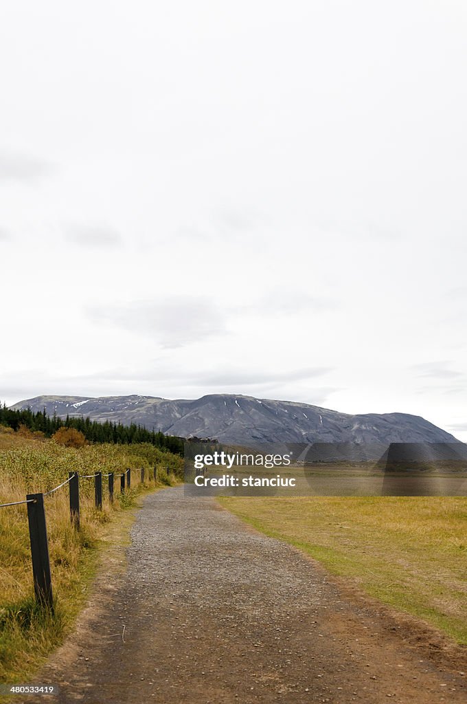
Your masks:
M165 468L167 474L169 467ZM144 484L145 470L141 467L140 484ZM78 474L69 472L68 479L58 484L53 489L40 494L27 494L25 501L11 501L1 503L0 508L8 506L27 505L27 520L29 524L29 534L31 543L32 576L34 579L34 593L37 603L48 608L53 613L53 591L51 580L51 569L49 559L49 541L47 539L46 515L44 509L44 498L51 496L55 491L68 484L70 500L70 521L72 526L79 530L79 479L94 479L94 506L97 510L102 510L102 477L108 478L108 498L113 503L114 498L114 477L120 477L120 493L124 494L125 489L132 486L132 470L128 468L124 472L95 472L94 474ZM158 467L153 467L153 480L158 481Z

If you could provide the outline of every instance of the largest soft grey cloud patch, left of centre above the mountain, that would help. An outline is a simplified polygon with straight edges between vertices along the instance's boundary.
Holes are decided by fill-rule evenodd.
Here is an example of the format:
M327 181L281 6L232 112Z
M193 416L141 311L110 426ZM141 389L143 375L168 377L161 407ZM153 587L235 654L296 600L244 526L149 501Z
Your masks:
M91 320L150 335L163 347L182 347L206 337L224 334L220 310L205 298L165 298L121 306L88 307Z

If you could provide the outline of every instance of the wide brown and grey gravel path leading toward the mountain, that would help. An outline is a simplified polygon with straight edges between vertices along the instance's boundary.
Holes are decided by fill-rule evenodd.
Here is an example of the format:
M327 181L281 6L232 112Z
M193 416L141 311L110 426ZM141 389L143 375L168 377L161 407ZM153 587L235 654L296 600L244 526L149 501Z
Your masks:
M44 671L60 703L467 701L466 678L377 606L214 499L183 487L147 496L127 559L126 572L101 575Z

